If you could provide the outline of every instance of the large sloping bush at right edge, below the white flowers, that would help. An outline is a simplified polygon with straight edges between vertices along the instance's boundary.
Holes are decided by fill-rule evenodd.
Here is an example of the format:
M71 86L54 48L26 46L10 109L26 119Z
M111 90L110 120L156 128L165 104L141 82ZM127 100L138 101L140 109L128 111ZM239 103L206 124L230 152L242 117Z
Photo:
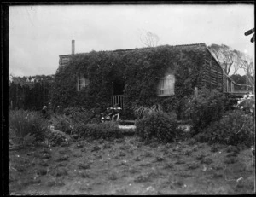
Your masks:
M241 110L224 114L224 118L212 123L195 138L197 141L226 145L253 145L255 136L253 117Z

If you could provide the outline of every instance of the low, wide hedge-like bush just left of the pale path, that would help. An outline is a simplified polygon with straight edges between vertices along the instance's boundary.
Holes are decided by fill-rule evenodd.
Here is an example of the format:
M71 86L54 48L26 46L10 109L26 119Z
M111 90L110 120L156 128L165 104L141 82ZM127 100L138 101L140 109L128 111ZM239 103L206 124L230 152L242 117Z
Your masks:
M100 124L84 124L75 125L74 133L82 137L93 137L95 139L119 138L121 132L119 126L113 122Z

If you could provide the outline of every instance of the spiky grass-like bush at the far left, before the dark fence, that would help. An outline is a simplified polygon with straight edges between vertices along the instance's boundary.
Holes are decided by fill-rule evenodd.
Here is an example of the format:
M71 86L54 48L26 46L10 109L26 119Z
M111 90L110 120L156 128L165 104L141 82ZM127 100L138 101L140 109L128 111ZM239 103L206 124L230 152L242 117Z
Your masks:
M43 141L48 129L48 122L36 112L24 110L9 112L9 128L15 132L15 137L24 141L29 136Z

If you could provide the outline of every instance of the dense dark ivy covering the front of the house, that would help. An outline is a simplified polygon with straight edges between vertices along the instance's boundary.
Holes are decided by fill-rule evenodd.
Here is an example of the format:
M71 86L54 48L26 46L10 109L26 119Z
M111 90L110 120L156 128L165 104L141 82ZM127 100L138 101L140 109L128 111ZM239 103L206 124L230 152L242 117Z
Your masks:
M124 84L126 113L138 105L167 106L173 101L177 104L184 96L193 94L195 86L201 85L204 50L203 46L166 45L73 55L67 66L59 67L55 74L50 93L53 107L104 110L110 104L114 81ZM157 85L168 68L175 73L175 96L157 96ZM79 73L90 81L81 91L76 89Z

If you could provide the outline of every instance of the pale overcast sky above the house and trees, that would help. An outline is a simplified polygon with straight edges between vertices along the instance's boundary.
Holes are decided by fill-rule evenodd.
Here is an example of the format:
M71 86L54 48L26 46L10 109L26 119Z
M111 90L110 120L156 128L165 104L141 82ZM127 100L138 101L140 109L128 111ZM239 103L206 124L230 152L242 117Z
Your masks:
M254 60L254 5L42 5L9 7L9 74L55 74L59 55L142 48L153 32L158 45L225 44ZM242 74L242 73L241 73Z

